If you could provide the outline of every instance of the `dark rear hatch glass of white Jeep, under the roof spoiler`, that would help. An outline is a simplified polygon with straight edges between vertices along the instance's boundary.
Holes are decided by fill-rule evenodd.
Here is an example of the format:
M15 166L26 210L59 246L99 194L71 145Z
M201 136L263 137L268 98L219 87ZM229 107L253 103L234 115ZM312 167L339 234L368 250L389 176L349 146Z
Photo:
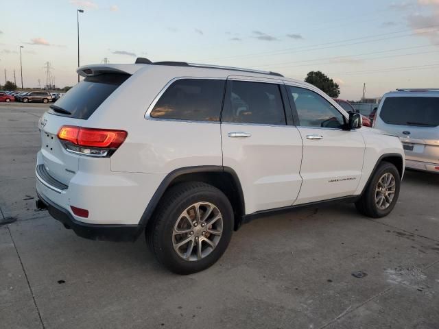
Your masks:
M75 119L88 119L130 75L108 73L86 77L54 103L49 112ZM58 110L56 110L58 108ZM64 111L71 114L64 113Z

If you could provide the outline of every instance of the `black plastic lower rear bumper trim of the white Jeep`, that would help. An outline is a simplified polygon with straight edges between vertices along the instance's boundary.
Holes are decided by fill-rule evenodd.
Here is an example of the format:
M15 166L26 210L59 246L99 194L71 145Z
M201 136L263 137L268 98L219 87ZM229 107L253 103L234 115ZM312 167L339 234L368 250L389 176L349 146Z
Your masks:
M47 206L49 214L57 221L71 228L78 236L97 241L135 241L137 239L137 225L117 224L90 224L77 221L71 213L54 204L43 195L37 193L40 200Z

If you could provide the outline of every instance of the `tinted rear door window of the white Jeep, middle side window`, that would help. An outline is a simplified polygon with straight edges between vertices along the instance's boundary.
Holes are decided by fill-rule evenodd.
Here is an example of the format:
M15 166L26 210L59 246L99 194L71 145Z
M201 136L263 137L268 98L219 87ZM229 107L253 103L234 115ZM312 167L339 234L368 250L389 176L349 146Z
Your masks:
M232 81L224 103L223 122L286 125L277 84Z

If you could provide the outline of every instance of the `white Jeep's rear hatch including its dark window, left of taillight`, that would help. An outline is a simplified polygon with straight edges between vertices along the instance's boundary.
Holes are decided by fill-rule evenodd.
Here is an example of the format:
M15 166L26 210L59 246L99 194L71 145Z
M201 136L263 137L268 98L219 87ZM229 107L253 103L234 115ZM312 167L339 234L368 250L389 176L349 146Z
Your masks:
M50 106L41 117L38 127L41 137L41 160L45 171L64 185L78 171L81 156L67 151L58 139L63 125L83 126L129 74L104 73L86 77Z

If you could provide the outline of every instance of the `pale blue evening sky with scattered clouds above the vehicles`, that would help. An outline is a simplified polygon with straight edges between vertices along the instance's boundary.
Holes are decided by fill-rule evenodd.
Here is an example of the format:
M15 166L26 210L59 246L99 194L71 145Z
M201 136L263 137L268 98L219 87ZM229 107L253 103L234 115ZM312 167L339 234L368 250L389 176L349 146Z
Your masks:
M0 0L1 8L10 1ZM322 71L340 98L439 88L439 0L14 0L0 20L0 83L38 87L46 62L56 86L80 64L137 57L274 71L304 80ZM16 10L19 8L19 10Z

